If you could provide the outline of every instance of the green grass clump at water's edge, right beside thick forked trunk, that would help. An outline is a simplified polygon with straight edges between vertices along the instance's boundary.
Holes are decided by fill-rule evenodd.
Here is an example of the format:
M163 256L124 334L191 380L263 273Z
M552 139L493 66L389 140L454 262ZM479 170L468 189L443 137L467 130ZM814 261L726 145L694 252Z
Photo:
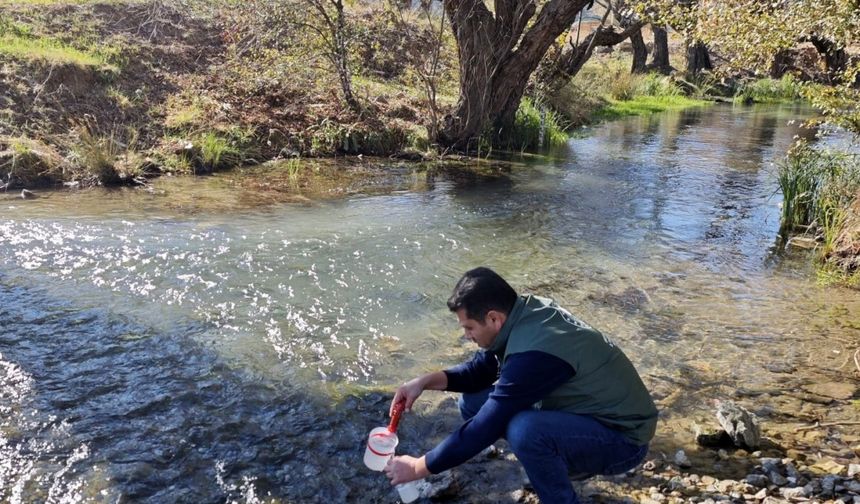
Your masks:
M514 118L510 145L520 150L556 147L567 142L567 128L562 116L545 104L523 98Z

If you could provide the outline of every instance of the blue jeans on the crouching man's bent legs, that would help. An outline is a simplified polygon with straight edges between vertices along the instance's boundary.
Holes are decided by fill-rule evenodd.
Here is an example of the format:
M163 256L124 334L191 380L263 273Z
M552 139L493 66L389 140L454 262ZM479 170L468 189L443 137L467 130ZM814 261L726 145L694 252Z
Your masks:
M492 390L460 397L464 420L475 416ZM505 437L547 504L579 502L569 473L620 474L639 465L648 453L648 445L635 445L590 416L562 411L521 411L511 419Z

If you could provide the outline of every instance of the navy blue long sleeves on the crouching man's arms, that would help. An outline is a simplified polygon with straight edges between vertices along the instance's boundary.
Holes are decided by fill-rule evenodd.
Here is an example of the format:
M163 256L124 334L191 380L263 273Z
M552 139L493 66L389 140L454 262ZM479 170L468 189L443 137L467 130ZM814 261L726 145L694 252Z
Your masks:
M445 390L470 393L493 382L496 385L474 417L427 452L427 469L438 474L474 457L505 434L514 415L532 407L574 373L564 360L539 351L510 355L501 370L495 354L481 351L472 360L445 370Z

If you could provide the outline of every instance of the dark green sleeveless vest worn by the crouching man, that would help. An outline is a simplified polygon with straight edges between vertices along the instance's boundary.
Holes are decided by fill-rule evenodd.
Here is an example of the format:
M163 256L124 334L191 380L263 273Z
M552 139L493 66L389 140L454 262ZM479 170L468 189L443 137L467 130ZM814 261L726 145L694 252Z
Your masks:
M489 350L503 366L513 354L539 351L573 367L573 378L540 409L594 417L637 445L654 437L657 407L633 364L609 338L551 299L520 296Z

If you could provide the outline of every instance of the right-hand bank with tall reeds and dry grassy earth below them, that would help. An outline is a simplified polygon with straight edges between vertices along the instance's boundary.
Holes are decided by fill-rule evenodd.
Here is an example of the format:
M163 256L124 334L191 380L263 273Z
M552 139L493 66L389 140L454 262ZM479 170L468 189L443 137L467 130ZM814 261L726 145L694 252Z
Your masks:
M799 144L779 165L780 236L817 250L825 283L860 287L860 157Z

